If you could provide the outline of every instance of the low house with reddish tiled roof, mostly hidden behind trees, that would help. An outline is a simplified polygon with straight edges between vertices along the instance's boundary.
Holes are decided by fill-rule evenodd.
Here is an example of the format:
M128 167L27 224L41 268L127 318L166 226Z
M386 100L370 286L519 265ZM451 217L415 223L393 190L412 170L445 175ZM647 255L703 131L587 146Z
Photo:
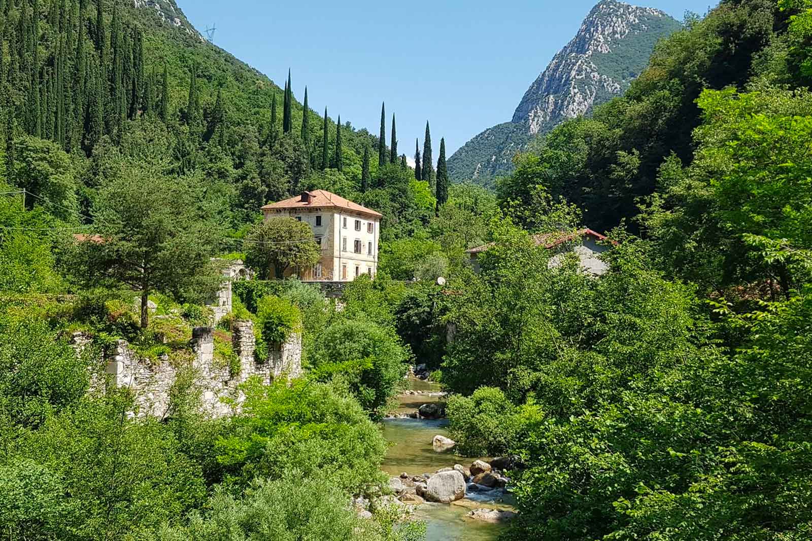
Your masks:
M573 251L581 261L581 269L585 273L596 277L603 276L609 269L609 266L599 257L609 249L606 243L603 243L603 241L607 240L606 236L588 228L572 233L560 232L533 235L533 242L536 243L536 246L543 246L547 250L555 251L555 255L550 258L548 263L550 268L559 266L564 260L564 254ZM493 246L493 243L466 251L474 272L478 273L480 270L479 255L487 251L491 246Z

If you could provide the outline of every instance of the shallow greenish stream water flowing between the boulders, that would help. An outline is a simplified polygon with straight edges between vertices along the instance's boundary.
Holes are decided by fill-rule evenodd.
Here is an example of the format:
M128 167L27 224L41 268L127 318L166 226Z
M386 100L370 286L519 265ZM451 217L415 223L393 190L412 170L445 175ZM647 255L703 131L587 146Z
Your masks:
M412 389L438 391L436 384L412 380ZM429 395L400 397L398 413L417 410L421 404L437 401ZM434 453L431 440L440 434L448 436L447 420L385 419L383 436L391 443L382 469L390 475L406 472L409 475L433 473L455 464L469 466L473 458L459 457L453 453ZM465 519L472 509L511 509L502 501L486 500L482 496L469 495L451 505L425 503L417 508L415 517L426 522L426 541L493 541L503 526Z

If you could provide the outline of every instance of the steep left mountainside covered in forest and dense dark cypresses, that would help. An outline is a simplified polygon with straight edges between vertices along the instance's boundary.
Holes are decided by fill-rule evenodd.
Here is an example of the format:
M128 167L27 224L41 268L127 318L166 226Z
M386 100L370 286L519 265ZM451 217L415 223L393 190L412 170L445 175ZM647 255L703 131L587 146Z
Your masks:
M306 104L305 81L280 88L205 41L174 0L2 0L0 15L3 152L13 160L23 135L53 141L76 187L101 182L88 164L110 148L139 148L158 130L175 173L222 182L239 229L268 200L360 184L364 149L378 145L349 123L337 144L335 122L296 100Z

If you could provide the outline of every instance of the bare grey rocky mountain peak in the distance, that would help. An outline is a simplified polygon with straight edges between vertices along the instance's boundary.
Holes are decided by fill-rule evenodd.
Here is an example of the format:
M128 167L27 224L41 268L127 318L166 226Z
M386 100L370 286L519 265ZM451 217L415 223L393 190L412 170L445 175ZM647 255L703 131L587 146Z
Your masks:
M448 161L451 178L488 184L507 173L513 155L533 136L624 92L646 67L654 44L677 28L663 11L599 2L530 85L511 122L489 128L454 153Z

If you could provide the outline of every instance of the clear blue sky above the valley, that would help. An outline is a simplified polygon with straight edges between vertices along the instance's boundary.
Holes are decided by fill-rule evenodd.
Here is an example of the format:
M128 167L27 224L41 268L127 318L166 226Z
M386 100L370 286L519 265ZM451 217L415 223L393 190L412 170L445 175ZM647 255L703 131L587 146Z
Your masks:
M398 150L412 156L431 122L450 156L473 135L512 118L525 90L581 26L597 0L412 0L272 2L178 0L214 41L284 86L292 69L299 101L331 118L378 132L387 103L387 143L395 113ZM716 2L633 2L678 20Z

